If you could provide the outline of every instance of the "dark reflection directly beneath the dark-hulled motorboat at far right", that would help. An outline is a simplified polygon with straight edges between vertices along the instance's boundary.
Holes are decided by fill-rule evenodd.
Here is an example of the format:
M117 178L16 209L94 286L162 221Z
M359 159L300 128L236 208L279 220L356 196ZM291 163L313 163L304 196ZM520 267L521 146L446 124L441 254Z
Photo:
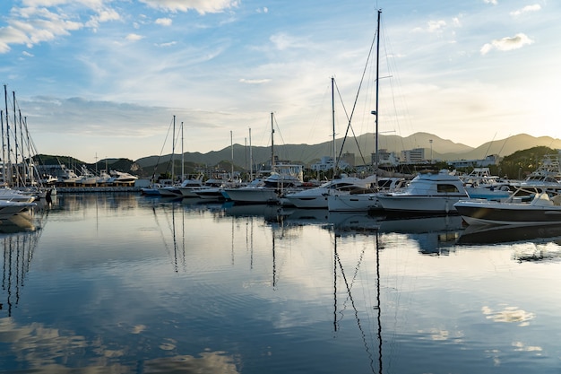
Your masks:
M459 244L498 244L517 241L559 241L561 225L470 225L462 232Z

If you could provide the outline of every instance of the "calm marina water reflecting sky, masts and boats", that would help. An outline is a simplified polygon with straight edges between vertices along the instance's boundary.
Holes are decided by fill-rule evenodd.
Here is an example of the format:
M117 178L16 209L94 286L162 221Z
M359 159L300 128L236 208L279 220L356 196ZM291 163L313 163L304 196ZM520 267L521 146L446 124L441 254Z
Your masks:
M561 372L558 229L136 194L18 223L1 372Z

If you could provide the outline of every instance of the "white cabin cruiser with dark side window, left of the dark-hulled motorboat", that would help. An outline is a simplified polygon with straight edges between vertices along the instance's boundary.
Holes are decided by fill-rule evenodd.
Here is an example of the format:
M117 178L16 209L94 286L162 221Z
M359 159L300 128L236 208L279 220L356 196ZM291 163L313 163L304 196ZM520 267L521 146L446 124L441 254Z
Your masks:
M454 204L470 198L449 170L421 172L401 191L376 197L384 211L397 213L456 213Z

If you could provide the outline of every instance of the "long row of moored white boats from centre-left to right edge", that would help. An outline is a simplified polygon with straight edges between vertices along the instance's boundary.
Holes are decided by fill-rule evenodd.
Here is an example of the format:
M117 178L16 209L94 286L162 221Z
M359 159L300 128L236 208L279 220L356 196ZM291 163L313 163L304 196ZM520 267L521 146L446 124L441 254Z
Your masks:
M248 184L224 178L186 179L180 188L160 187L159 196L193 197L234 204L276 204L334 213L460 215L468 225L544 225L561 223L560 155L546 156L523 180L492 176L488 168L470 174L423 170L414 178L339 176L324 183L302 180L297 165L277 165L266 178ZM195 186L190 186L196 180ZM189 186L189 187L187 187ZM151 193L149 193L151 191ZM165 195L171 192L170 195ZM186 194L188 191L188 194ZM142 189L145 195L157 195Z

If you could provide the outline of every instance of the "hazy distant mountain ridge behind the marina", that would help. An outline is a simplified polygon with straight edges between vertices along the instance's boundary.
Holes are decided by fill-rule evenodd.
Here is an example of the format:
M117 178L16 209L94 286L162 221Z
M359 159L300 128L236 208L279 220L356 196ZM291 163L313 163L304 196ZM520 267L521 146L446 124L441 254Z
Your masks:
M432 143L431 143L432 140ZM341 150L343 139L336 139L335 149ZM561 149L561 139L552 138L550 136L534 137L527 134L519 134L509 136L505 139L494 140L479 145L477 148L469 145L454 143L449 139L442 139L437 135L428 133L415 133L406 137L399 135L379 135L378 147L388 152L396 152L400 155L402 150L410 150L414 148L424 148L425 157L427 159L454 161L454 160L479 160L484 159L488 155L498 154L499 156L507 156L516 151L521 151L535 146L547 146L553 149ZM245 167L249 163L249 150L245 145L234 144L233 147L225 147L220 151L211 151L207 153L201 152L185 152L184 159L186 162L208 165L209 167L219 164L223 161L232 160L232 148L234 153L234 164ZM332 142L324 142L322 144L275 144L274 154L280 160L300 162L310 165L318 161L323 156L332 155ZM266 163L271 160L271 148L269 146L252 146L253 160L255 163ZM371 160L371 154L375 152L375 135L367 133L359 135L356 139L346 139L341 153L354 153L357 162L361 163L364 158L368 163ZM431 157L432 153L432 157ZM180 155L176 155L180 157ZM143 157L135 161L142 168L153 167L163 162L168 162L171 154L162 156Z

